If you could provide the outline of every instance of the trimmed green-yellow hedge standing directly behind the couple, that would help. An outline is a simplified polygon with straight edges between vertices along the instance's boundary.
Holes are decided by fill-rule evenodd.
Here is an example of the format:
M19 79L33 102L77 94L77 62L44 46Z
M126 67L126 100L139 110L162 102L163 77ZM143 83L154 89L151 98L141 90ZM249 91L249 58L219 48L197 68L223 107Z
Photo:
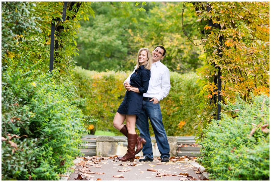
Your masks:
M80 107L84 114L91 115L100 122L95 129L120 134L113 127L115 113L123 100L126 89L124 80L130 72L95 72L76 67L73 72L78 95L88 98ZM170 72L171 89L169 95L160 101L164 127L168 136L194 135L193 119L198 115L201 99L196 96L200 88L195 73L179 74ZM151 128L151 125L150 125ZM153 136L153 130L150 130Z

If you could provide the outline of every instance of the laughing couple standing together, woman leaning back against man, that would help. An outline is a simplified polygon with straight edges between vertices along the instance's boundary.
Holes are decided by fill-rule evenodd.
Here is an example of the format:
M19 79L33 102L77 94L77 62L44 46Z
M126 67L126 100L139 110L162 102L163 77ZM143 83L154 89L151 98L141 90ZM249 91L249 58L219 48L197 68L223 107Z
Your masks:
M153 161L148 119L154 130L161 162L169 161L170 147L159 104L170 90L169 70L160 62L165 53L163 46L156 46L152 56L148 48L140 49L135 69L124 81L127 91L113 121L113 126L128 138L126 154L117 157L120 161L133 161L142 149L144 157L139 161ZM123 124L124 120L126 125ZM135 124L140 136L136 134Z

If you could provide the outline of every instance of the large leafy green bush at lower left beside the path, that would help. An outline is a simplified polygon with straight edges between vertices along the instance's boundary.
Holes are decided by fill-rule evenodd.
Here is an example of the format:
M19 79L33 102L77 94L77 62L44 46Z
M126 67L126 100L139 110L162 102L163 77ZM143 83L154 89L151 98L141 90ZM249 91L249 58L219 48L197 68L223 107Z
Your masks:
M56 84L58 70L19 79L8 73L2 73L2 180L59 179L80 155L86 131L71 84Z

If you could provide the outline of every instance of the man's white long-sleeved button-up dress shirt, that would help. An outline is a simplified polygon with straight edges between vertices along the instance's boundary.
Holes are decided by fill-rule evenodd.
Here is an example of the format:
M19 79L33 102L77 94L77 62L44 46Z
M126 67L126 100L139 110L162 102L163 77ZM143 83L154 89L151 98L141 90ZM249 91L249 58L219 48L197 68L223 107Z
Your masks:
M130 84L130 77L136 69L128 76L125 81ZM125 83L124 81L124 83ZM123 83L123 85L124 85ZM151 79L147 93L143 97L155 97L158 101L165 98L170 91L170 74L167 66L159 61L151 64Z

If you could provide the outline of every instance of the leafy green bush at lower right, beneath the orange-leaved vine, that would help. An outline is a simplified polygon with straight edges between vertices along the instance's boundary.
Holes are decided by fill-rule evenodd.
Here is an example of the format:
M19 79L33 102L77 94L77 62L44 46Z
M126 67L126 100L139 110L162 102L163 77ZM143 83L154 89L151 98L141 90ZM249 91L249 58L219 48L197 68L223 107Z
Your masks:
M203 129L198 161L215 180L269 180L269 97L239 97L224 107L230 112Z

